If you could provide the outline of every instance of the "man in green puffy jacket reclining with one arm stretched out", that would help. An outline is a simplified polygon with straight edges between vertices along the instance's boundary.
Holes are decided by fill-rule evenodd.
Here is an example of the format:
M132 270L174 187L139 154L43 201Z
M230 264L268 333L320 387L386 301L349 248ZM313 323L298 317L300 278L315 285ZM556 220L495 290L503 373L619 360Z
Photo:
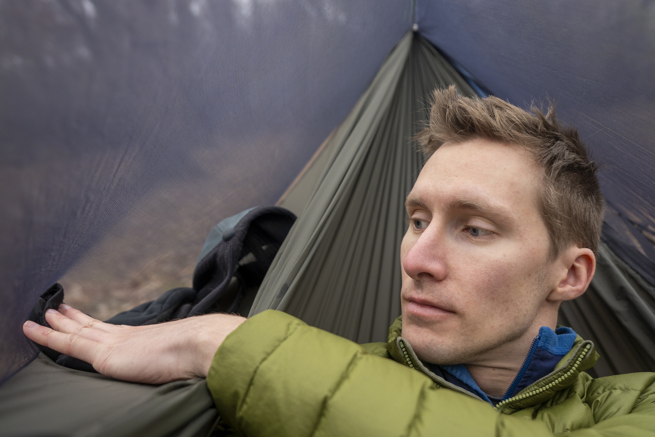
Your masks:
M434 99L388 343L277 311L128 327L66 305L26 335L118 379L207 377L246 436L654 435L655 373L592 379L591 342L555 326L593 277L603 220L578 134L552 109Z

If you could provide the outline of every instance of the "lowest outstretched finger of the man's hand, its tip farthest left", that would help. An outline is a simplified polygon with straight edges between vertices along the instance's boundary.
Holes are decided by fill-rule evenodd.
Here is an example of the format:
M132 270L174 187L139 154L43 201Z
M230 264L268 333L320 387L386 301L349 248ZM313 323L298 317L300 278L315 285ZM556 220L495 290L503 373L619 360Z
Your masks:
M31 320L23 324L23 332L39 345L47 346L91 364L93 364L94 356L98 353L100 346L96 341L72 333L57 332Z

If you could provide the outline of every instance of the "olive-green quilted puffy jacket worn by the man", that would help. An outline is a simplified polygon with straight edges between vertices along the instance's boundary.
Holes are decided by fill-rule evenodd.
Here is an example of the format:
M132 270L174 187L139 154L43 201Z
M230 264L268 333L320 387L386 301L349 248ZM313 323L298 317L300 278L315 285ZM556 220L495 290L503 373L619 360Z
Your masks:
M550 375L493 408L431 373L399 320L388 343L358 345L269 310L225 339L207 383L251 437L655 436L655 373L593 379L583 370L597 358L578 337Z

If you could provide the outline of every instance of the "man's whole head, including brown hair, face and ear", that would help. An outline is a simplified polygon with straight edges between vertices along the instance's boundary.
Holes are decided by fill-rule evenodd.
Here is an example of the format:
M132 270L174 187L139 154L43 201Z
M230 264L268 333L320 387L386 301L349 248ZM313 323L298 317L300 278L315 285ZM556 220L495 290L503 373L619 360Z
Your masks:
M429 159L407 197L403 337L424 360L469 364L554 328L561 301L584 293L603 196L553 108L528 113L453 87L434 99L419 134Z

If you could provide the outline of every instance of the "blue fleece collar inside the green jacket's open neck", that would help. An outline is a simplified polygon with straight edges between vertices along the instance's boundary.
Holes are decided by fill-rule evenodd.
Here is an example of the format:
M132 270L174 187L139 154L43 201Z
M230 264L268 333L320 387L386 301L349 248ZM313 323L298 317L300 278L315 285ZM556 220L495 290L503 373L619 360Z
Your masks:
M539 329L539 334L533 340L521 369L514 377L514 381L512 381L512 384L502 396L501 400L511 398L516 393L525 389L525 387L528 387L552 372L559 360L571 351L576 337L576 333L571 328L563 326L553 331L548 326L542 326ZM443 366L430 364L430 369L446 381L476 394L486 402L489 402L489 404L496 404L496 402L493 402L478 387L464 364Z

